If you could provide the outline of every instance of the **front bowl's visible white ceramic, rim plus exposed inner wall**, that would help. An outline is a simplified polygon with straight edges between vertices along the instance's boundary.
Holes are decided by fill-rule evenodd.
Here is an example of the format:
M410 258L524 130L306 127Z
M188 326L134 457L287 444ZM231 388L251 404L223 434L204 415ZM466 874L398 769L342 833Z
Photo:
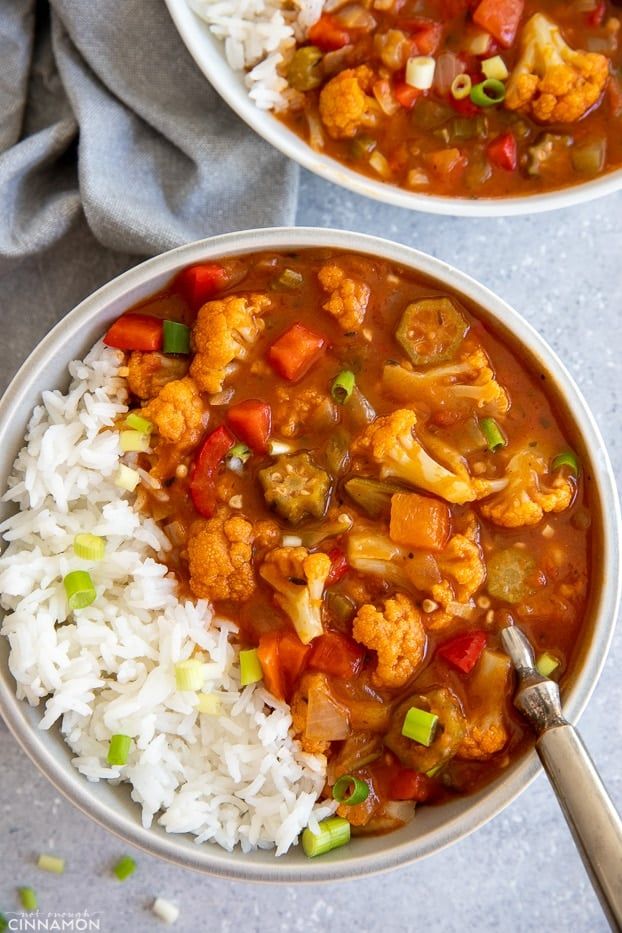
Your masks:
M620 516L611 466L586 404L571 377L542 338L515 311L488 289L439 259L387 240L341 231L279 228L231 233L164 253L100 288L71 311L33 351L0 401L0 487L6 486L24 431L43 389L67 385L67 364L81 358L108 325L130 305L161 288L189 263L255 250L292 250L302 247L357 250L402 263L454 289L481 306L497 326L524 344L535 364L549 374L573 413L591 460L593 493L600 503L602 547L595 561L597 581L593 605L594 627L578 675L564 697L570 720L577 720L594 688L613 634L619 601ZM4 514L7 513L6 506ZM1 514L1 513L0 513ZM270 852L244 855L193 842L191 836L169 835L163 829L143 829L139 807L126 786L102 781L89 783L70 763L71 753L56 731L37 728L40 709L16 699L7 666L8 643L0 638L0 712L33 762L76 806L102 826L130 843L172 862L199 871L253 881L324 881L384 871L423 858L462 838L506 807L535 777L535 752L515 761L484 790L442 807L422 808L413 823L386 836L354 839L344 849L308 860L299 848L276 859Z

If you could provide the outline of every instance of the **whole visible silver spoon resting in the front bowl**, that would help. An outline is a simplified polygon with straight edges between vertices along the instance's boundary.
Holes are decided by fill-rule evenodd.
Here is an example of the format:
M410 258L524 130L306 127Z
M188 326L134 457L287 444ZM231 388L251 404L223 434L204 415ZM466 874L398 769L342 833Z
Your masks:
M563 716L559 687L536 670L525 634L513 625L503 629L501 640L518 675L514 705L537 735L536 751L611 928L622 930L622 820Z

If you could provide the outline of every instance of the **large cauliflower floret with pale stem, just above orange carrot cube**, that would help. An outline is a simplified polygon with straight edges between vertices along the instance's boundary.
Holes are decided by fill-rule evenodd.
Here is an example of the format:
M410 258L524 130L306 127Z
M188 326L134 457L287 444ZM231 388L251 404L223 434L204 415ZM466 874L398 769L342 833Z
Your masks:
M370 424L356 440L353 450L371 455L380 465L382 479L394 476L448 502L472 502L503 488L504 481L472 477L465 460L455 450L428 435L426 443L432 453L440 455L451 469L433 459L415 434L416 427L416 412L400 408Z

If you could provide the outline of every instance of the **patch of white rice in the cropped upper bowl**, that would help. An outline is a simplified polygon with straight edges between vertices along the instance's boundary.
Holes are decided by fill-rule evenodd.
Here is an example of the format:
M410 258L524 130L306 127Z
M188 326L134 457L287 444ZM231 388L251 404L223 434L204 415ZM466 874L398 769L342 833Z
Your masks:
M245 72L249 97L262 110L285 110L295 95L283 66L321 16L324 0L188 0L224 44L227 62Z

